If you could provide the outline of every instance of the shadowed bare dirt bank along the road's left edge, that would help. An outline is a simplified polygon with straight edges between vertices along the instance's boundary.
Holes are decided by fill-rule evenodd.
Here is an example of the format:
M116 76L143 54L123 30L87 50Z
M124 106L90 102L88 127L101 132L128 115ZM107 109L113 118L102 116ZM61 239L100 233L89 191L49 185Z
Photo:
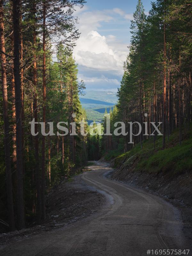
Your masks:
M67 226L100 210L104 196L91 190L76 176L71 182L62 182L46 196L46 220L44 223L28 223L20 231L0 234L0 247L20 241L32 235Z

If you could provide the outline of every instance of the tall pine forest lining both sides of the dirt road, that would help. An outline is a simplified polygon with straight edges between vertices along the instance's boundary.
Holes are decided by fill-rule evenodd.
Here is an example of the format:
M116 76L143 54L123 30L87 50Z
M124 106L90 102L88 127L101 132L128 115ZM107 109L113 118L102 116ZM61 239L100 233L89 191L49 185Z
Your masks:
M30 219L42 223L46 219L45 195L88 160L107 154L113 158L136 145L142 149L149 139L155 149L158 136L151 122L162 123L162 150L175 129L179 145L191 129L192 4L189 0L156 0L146 14L139 0L131 21L132 37L118 102L109 113L105 111L102 126L105 133L110 117L113 134L116 122L124 122L126 132L128 122L147 122L147 133L133 136L133 144L129 132L126 136L82 136L80 125L73 136L31 135L33 119L44 122L45 131L48 122L53 122L56 134L60 121L87 119L79 100L85 84L78 80L73 57L80 36L74 12L84 4L84 0L0 0L3 231L22 229ZM138 126L133 128L137 134ZM35 125L35 132L38 129ZM149 135L152 132L154 136Z

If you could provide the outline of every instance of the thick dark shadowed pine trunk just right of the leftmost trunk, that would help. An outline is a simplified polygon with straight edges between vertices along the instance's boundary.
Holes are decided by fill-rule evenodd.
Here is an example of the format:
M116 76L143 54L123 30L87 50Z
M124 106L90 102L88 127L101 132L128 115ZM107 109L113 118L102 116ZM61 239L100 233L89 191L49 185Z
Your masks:
M22 118L21 118L21 80L20 80L20 0L12 0L14 36L14 79L16 112L16 152L17 152L17 220L18 228L25 227L23 195L23 155L22 155Z

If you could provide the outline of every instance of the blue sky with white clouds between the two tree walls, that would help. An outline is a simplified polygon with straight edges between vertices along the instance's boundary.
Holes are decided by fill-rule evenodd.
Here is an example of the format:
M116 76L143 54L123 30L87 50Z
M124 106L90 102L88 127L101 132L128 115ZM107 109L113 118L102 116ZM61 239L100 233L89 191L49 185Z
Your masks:
M143 0L146 13L150 2ZM81 35L74 57L86 90L116 92L120 87L136 5L137 0L87 0L84 8L76 7Z

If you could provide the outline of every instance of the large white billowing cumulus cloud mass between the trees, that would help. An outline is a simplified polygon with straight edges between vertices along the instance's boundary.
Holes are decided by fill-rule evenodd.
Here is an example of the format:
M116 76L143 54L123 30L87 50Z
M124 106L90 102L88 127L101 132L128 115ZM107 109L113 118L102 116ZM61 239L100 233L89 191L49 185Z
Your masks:
M84 12L81 9L77 12L79 17L77 28L81 32L81 36L74 48L76 63L80 67L86 68L86 72L89 70L98 71L98 77L84 79L85 83L87 82L89 85L104 83L109 88L109 84L112 87L117 87L123 75L123 63L128 54L127 44L121 42L115 35L107 34L107 29L104 35L101 35L98 30L102 28L103 24L116 22L116 15L120 15L121 19L126 20L131 19L132 14L126 14L119 8L102 11L86 9ZM130 15L130 17L128 18L126 15ZM108 72L110 79L106 72ZM113 75L118 76L119 81L116 78L111 79ZM84 76L86 75L84 74Z

